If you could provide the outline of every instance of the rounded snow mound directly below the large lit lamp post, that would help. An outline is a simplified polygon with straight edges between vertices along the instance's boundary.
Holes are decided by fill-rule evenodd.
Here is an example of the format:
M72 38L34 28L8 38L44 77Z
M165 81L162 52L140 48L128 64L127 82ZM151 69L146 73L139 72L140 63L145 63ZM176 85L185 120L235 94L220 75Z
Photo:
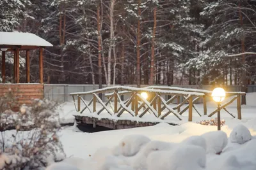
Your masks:
M206 153L216 154L221 153L223 148L227 146L227 134L223 131L213 131L202 134L206 142Z

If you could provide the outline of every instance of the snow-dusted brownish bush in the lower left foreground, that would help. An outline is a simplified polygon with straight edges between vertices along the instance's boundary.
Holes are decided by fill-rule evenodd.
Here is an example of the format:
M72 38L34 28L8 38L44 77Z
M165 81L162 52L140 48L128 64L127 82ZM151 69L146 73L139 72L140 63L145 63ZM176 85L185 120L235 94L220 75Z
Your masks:
M41 169L65 158L58 138L60 122L56 103L35 100L18 112L0 115L0 166L5 169ZM12 131L6 131L14 127ZM3 156L4 155L4 156Z

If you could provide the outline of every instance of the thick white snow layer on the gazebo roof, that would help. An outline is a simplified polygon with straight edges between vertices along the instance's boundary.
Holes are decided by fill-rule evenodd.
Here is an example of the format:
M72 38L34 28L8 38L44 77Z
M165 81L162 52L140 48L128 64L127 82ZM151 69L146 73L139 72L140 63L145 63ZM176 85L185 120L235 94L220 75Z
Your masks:
M39 36L24 32L0 32L0 46L53 46Z

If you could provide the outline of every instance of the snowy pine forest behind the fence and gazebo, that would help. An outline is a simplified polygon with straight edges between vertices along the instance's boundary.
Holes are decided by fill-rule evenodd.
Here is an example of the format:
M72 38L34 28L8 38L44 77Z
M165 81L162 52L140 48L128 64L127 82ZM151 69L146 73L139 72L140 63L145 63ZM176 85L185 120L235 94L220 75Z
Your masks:
M34 33L45 83L255 83L256 1L1 0L0 31ZM1 52L0 52L1 55ZM12 82L13 54L6 53ZM26 81L20 53L20 82ZM31 53L38 81L38 53ZM243 90L244 91L244 90Z

